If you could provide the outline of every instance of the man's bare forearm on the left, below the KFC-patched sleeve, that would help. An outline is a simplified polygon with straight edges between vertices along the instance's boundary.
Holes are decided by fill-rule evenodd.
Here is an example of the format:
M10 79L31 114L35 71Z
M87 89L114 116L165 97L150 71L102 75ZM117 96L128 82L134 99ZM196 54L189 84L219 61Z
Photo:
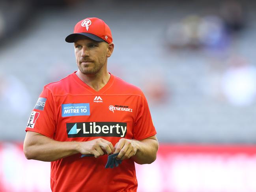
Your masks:
M58 142L43 135L34 135L24 142L24 154L28 159L55 161L78 152L78 142Z

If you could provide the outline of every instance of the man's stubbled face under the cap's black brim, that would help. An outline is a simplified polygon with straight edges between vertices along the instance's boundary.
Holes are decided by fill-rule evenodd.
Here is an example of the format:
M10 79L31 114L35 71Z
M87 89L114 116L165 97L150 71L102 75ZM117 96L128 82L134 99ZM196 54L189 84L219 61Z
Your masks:
M110 55L109 44L105 41L94 41L84 36L75 39L77 66L84 75L95 75L107 67Z

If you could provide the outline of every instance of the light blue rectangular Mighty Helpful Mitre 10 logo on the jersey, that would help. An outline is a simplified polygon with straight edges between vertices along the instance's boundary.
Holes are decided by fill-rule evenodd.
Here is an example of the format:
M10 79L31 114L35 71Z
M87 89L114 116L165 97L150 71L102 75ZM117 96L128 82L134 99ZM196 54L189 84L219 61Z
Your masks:
M69 116L90 116L89 103L62 104L62 117Z

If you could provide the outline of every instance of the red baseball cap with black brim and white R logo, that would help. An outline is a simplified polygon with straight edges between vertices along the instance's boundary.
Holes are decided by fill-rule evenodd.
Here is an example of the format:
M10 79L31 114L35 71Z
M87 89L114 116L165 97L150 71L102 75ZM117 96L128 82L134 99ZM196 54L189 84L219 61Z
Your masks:
M90 17L79 21L74 28L74 33L66 37L65 41L74 43L77 35L84 35L94 41L106 41L112 43L112 35L109 26L101 19Z

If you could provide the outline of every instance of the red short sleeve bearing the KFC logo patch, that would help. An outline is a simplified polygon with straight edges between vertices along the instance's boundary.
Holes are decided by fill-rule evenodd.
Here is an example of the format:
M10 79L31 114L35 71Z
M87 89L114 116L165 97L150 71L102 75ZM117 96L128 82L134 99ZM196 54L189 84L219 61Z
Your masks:
M51 91L45 87L28 119L26 131L38 132L52 138L55 130L54 99Z

